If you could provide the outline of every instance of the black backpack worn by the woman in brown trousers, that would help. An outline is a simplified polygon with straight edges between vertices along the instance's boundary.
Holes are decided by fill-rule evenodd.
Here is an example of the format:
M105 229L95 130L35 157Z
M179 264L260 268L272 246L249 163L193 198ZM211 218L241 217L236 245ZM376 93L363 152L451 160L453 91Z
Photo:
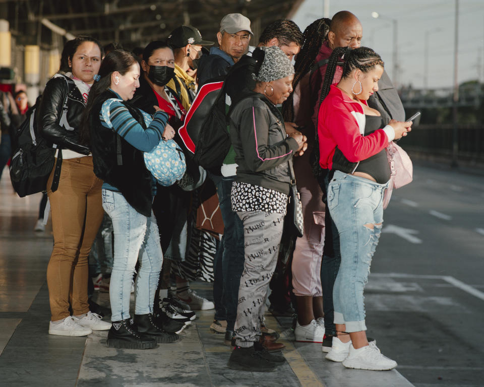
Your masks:
M69 88L67 79L66 82ZM21 198L32 195L32 193L45 191L47 180L54 166L55 148L40 136L38 130L37 107L40 103L40 97L38 96L35 104L27 110L25 120L15 133L18 148L12 153L10 180ZM67 95L63 111L67 111ZM62 155L59 150L59 157L57 158L59 167L61 162ZM52 182L52 186L54 186L54 182Z

